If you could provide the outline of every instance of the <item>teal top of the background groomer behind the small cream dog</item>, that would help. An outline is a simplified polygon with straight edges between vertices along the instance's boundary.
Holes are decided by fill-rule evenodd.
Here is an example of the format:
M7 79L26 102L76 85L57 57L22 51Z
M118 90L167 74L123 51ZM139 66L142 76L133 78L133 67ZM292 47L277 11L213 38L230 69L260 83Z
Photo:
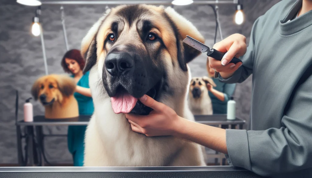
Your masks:
M235 91L236 84L226 84L219 81L219 79L212 78L214 83L217 85L214 89L224 94L224 101L217 99L215 95L208 92L211 102L213 114L226 114L227 113L227 102Z

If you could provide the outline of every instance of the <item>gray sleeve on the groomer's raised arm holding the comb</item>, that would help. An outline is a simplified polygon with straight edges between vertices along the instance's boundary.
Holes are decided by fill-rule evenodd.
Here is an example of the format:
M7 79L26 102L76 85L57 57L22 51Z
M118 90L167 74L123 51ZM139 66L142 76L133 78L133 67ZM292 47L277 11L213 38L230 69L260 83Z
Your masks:
M260 18L260 17L259 17ZM254 49L255 49L255 36L257 32L257 24L259 18L255 21L251 29L251 35L247 51L245 55L241 56L240 59L243 62L242 66L238 68L235 73L228 79L223 79L220 74L217 74L217 78L223 83L241 83L252 74L254 64ZM261 31L261 29L259 29Z

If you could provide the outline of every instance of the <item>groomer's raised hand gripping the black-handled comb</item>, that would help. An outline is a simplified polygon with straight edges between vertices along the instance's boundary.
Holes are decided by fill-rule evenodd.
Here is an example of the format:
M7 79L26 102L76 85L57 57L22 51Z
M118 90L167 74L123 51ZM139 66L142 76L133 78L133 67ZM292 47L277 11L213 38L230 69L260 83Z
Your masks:
M225 53L222 60L215 60L209 57L209 67L220 73L222 78L227 79L242 65L241 62L236 64L230 63L233 57L240 57L246 53L246 37L241 34L233 34L224 40L216 43L214 49Z

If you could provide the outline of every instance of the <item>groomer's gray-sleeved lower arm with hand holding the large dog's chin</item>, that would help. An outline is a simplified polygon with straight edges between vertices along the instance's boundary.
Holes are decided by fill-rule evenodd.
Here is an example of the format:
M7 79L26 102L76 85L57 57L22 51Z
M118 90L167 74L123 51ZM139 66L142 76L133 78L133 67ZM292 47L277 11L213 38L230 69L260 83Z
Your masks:
M188 121L173 109L144 95L140 101L154 110L146 116L126 114L134 132L146 136L172 135L225 153L232 166L261 176L294 172L312 165L312 77L295 94L282 117L282 127L267 130L221 129ZM274 119L272 119L274 120Z

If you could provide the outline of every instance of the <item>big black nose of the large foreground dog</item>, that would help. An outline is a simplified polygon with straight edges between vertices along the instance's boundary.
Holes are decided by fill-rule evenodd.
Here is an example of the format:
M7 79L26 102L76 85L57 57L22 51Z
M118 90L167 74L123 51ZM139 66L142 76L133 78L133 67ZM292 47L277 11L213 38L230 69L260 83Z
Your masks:
M127 52L110 53L106 56L105 67L110 75L125 75L134 68L134 59Z

